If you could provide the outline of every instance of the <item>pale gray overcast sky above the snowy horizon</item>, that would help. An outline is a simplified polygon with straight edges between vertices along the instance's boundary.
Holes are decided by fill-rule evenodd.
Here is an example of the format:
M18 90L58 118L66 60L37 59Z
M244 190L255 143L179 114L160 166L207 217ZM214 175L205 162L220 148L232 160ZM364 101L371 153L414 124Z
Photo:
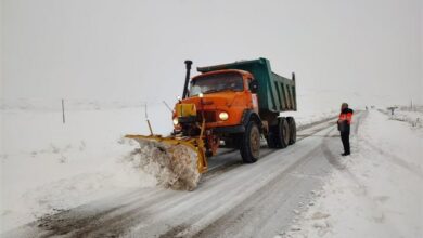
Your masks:
M299 106L422 102L420 0L2 0L5 98L174 102L184 66L259 56Z

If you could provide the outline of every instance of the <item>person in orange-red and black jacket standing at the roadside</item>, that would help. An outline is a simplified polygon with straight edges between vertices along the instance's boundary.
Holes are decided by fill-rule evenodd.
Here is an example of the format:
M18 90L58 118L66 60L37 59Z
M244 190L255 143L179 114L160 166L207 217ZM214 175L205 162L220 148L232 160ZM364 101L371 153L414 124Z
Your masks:
M341 114L337 120L337 129L341 132L341 141L343 142L344 153L342 156L348 156L351 154L349 148L349 130L352 120L354 110L348 108L347 103L341 105Z

